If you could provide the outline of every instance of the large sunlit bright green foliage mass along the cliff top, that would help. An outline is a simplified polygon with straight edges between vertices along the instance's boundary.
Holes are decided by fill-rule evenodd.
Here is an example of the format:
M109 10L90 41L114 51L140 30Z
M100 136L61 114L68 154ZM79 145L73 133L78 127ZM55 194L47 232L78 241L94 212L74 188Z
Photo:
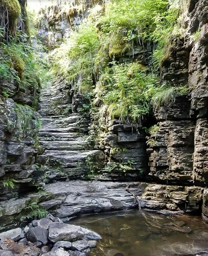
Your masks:
M152 41L160 50L169 48L178 15L168 0L111 0L105 12L94 12L51 54L53 74L85 92L94 89L110 59L133 51L135 44Z

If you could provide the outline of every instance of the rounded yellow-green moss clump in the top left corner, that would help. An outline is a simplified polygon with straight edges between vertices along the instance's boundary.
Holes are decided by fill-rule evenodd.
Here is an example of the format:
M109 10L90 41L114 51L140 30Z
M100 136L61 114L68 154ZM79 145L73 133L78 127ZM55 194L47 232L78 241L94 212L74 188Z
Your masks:
M18 0L0 0L0 4L7 9L8 15L15 20L21 14L21 7Z

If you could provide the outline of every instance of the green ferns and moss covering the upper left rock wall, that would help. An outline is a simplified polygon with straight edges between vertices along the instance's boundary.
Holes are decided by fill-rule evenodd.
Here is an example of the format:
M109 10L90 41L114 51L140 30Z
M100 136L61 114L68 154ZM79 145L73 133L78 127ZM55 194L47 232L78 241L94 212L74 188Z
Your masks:
M9 38L9 44L7 41L0 42L0 79L14 79L24 90L38 90L41 85L37 76L39 64L34 58L37 53L32 46L23 42L28 36L22 34Z

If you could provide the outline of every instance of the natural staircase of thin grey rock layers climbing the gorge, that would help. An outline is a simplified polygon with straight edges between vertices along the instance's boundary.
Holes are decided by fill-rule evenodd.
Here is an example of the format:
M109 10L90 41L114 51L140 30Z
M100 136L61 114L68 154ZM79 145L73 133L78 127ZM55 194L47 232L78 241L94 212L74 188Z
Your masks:
M89 174L88 162L102 165L101 150L86 150L89 119L86 113L77 112L74 104L81 105L76 95L68 96L55 87L45 89L41 96L42 128L39 146L44 153L38 163L45 174L45 182L85 178Z

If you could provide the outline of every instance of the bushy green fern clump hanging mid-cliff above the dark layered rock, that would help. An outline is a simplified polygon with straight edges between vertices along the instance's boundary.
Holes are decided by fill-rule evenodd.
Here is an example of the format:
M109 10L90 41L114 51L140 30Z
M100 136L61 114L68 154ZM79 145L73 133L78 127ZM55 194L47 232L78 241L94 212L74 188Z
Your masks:
M150 88L156 87L158 77L148 74L138 63L112 63L99 83L103 86L103 102L111 118L135 122L150 111ZM99 86L99 84L98 84Z

